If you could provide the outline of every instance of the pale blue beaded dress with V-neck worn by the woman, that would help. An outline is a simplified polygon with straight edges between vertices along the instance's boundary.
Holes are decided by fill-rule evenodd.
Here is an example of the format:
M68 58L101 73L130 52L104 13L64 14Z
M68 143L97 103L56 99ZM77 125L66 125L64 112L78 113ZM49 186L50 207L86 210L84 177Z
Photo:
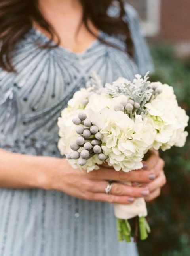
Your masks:
M92 71L105 83L152 70L137 14L131 6L126 12L135 61L99 41L76 54L63 47L38 48L36 42L48 39L36 29L25 35L13 54L17 72L0 70L1 148L61 157L57 117ZM118 15L118 10L109 13ZM122 37L100 36L124 48ZM136 244L118 242L116 233L112 204L58 191L0 189L0 256L137 256Z

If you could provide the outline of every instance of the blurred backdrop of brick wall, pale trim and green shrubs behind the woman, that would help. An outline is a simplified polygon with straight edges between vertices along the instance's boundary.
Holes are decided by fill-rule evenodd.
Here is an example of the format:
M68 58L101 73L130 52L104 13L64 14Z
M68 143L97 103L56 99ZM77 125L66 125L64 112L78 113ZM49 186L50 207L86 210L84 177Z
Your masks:
M152 81L174 87L190 116L190 0L127 0L135 7L155 65ZM187 128L190 134L190 127ZM190 136L183 148L161 153L167 185L148 205L152 233L139 243L140 256L190 255Z

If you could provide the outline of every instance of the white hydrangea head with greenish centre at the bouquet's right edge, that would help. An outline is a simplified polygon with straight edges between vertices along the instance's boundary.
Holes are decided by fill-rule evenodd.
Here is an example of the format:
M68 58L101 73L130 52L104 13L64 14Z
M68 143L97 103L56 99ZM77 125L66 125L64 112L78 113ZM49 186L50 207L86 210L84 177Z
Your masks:
M178 106L173 88L162 85L163 91L155 99L145 105L148 110L148 118L153 121L156 129L154 149L166 150L173 145L183 147L186 142L185 127L188 125L188 116L184 109Z

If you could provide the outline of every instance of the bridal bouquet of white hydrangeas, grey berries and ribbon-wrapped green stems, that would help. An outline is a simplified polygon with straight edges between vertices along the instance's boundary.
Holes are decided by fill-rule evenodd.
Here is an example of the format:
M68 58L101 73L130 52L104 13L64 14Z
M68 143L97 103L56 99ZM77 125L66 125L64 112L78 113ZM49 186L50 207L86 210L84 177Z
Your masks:
M77 91L58 119L59 150L73 168L87 172L107 162L116 171L142 168L151 149L183 147L188 116L178 106L173 87L136 75L133 81L118 78L101 85L94 75ZM130 183L127 183L131 185ZM133 204L114 205L118 239L130 241L129 219L138 216L141 239L150 228L144 198Z

